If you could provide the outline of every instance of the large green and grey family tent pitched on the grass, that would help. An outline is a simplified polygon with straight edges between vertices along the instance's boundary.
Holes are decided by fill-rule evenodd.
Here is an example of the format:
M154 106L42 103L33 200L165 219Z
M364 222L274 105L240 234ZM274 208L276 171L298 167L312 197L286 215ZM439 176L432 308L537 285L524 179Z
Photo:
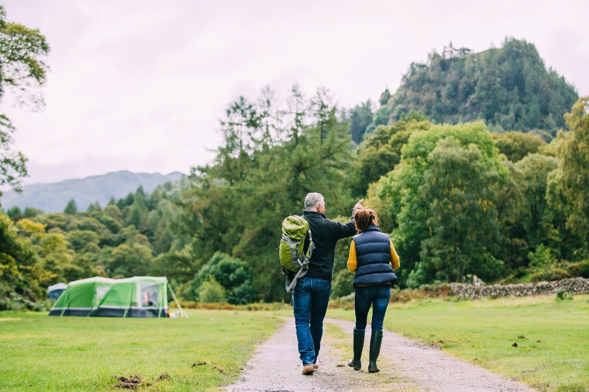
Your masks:
M49 316L167 317L169 287L166 277L154 276L76 280L61 293Z

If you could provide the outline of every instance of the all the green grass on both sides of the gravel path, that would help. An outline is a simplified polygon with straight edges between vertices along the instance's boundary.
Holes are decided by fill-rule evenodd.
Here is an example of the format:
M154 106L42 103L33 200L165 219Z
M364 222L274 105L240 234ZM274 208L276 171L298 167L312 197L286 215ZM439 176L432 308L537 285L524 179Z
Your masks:
M138 391L216 391L280 316L292 316L189 312L160 320L0 312L0 390L112 391L115 376L137 375ZM355 318L343 309L327 317ZM589 392L589 296L391 304L385 327L540 391Z

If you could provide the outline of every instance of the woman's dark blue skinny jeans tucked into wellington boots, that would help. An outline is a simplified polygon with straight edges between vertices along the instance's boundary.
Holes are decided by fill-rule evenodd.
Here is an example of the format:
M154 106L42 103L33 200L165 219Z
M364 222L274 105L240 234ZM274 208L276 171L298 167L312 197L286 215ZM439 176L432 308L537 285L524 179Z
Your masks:
M372 330L382 331L386 307L391 300L391 285L356 286L354 310L356 311L356 329L366 329L366 318L372 305Z

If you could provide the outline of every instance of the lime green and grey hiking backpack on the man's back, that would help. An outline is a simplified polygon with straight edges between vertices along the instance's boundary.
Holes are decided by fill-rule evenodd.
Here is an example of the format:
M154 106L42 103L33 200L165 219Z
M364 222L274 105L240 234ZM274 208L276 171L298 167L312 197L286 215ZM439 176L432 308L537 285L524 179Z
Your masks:
M308 242L306 241L307 236L309 237ZM304 276L309 270L309 259L313 254L313 249L315 249L309 222L298 215L290 215L284 218L282 221L282 238L278 249L281 270L286 276L284 287L286 292L290 293L290 290L296 286L297 279ZM292 280L289 279L289 271L295 273Z

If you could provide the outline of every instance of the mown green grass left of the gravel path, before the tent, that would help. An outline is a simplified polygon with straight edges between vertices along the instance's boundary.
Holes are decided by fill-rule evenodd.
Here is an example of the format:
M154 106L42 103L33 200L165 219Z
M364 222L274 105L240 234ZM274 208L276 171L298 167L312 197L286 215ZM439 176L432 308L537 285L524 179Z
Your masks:
M192 310L188 319L48 317L0 312L0 390L216 391L280 324L270 312ZM138 380L138 379L136 379ZM151 386L147 384L151 383Z

